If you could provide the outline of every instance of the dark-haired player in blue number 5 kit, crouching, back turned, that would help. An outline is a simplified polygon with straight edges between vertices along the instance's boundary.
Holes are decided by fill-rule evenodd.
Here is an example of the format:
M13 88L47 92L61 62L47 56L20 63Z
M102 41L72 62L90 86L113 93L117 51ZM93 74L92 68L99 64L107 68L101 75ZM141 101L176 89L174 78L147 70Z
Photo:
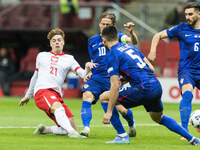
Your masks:
M109 124L113 118L113 108L116 102L125 108L143 105L152 120L169 130L185 137L192 145L200 145L200 140L181 127L173 118L163 115L161 101L162 87L155 77L150 62L133 45L118 42L117 30L114 26L107 26L102 31L104 45L110 50L106 57L107 72L110 77L110 91L101 95L101 101L108 105L103 116L103 123ZM130 87L121 87L119 90L119 75L123 76ZM128 136L117 137L107 143L129 143Z

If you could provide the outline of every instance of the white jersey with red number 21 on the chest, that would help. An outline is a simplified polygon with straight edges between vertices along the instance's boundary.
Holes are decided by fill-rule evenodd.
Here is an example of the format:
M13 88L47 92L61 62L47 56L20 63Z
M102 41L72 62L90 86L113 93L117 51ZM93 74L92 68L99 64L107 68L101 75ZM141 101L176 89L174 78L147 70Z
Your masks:
M80 68L72 55L41 52L36 59L37 81L34 95L40 89L54 89L62 96L62 85L69 70L77 72Z

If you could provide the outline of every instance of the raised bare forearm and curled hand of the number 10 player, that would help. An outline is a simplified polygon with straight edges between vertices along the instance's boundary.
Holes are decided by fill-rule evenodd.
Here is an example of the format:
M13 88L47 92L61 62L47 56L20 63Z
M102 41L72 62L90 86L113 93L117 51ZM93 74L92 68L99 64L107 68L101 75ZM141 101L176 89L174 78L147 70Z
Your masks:
M134 32L134 23L133 22L128 22L124 24L124 27L129 31L131 37L126 38L126 42L129 44L136 45L138 43L138 38L137 35Z

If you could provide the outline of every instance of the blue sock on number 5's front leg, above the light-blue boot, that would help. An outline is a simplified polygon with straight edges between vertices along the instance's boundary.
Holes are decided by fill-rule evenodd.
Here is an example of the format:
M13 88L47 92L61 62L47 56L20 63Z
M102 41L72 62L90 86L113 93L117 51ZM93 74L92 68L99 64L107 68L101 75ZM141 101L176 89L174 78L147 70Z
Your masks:
M104 112L107 112L108 103L102 102L101 106L103 107ZM113 127L117 131L117 134L126 133L126 131L124 130L124 127L119 119L119 113L118 113L116 107L114 107L114 109L113 109L113 113L112 113L112 117L110 118L110 122L112 123Z

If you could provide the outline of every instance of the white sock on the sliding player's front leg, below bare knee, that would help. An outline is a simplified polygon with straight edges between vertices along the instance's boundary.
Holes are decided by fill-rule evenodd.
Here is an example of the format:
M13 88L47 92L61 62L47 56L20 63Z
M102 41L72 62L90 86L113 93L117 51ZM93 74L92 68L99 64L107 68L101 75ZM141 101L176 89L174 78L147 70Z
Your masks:
M54 112L54 116L56 117L57 123L68 133L71 131L75 131L74 128L71 126L69 118L65 114L65 109L63 107L56 109Z

